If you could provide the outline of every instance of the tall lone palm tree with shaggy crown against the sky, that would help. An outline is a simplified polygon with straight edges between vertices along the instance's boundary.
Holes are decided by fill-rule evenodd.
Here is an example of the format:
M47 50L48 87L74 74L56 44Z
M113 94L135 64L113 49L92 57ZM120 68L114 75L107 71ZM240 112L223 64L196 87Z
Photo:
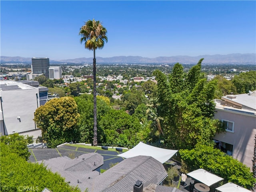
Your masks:
M105 42L108 42L106 36L107 30L102 26L100 21L88 20L84 22L85 24L80 28L79 34L82 36L80 38L81 44L84 42L84 47L89 50L93 50L93 120L94 120L94 136L92 144L97 146L97 103L96 103L96 58L95 50L102 49Z

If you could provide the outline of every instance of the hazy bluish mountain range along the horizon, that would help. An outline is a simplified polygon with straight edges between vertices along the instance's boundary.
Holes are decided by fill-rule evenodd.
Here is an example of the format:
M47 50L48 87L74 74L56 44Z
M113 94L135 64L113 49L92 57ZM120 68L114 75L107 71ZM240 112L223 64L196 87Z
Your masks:
M156 64L195 64L204 58L204 64L256 64L256 54L227 54L227 55L200 55L200 56L170 56L170 57L156 57L146 58L140 56L115 56L115 57L96 57L97 63L120 63L120 64L142 64L142 63L156 63ZM1 64L4 63L31 63L31 58L24 57L8 57L1 56ZM66 60L51 60L50 63L92 63L91 58L75 58Z

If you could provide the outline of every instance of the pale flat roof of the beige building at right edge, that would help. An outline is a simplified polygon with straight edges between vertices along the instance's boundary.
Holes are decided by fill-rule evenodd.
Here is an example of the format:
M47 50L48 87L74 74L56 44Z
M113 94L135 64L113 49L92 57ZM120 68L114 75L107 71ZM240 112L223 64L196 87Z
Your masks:
M222 96L222 100L240 104L244 107L248 107L256 110L256 91L251 92L251 94L237 94L237 95L226 95Z

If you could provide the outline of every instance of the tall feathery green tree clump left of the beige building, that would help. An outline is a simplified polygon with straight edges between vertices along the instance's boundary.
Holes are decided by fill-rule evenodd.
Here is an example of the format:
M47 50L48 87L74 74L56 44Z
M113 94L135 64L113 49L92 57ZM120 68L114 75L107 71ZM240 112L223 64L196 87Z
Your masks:
M156 70L158 81L158 115L164 132L164 144L170 148L193 148L197 143L210 145L212 137L221 131L214 120L216 81L208 82L201 70L201 59L188 73L174 65L172 73Z

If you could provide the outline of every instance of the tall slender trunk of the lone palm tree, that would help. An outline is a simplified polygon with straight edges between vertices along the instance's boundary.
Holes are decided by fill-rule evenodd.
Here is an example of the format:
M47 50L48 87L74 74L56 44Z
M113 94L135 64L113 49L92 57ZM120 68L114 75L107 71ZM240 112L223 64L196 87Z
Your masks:
M93 120L94 120L94 126L93 126L93 146L98 145L97 140L97 101L96 101L96 58L95 58L95 49L93 50Z

